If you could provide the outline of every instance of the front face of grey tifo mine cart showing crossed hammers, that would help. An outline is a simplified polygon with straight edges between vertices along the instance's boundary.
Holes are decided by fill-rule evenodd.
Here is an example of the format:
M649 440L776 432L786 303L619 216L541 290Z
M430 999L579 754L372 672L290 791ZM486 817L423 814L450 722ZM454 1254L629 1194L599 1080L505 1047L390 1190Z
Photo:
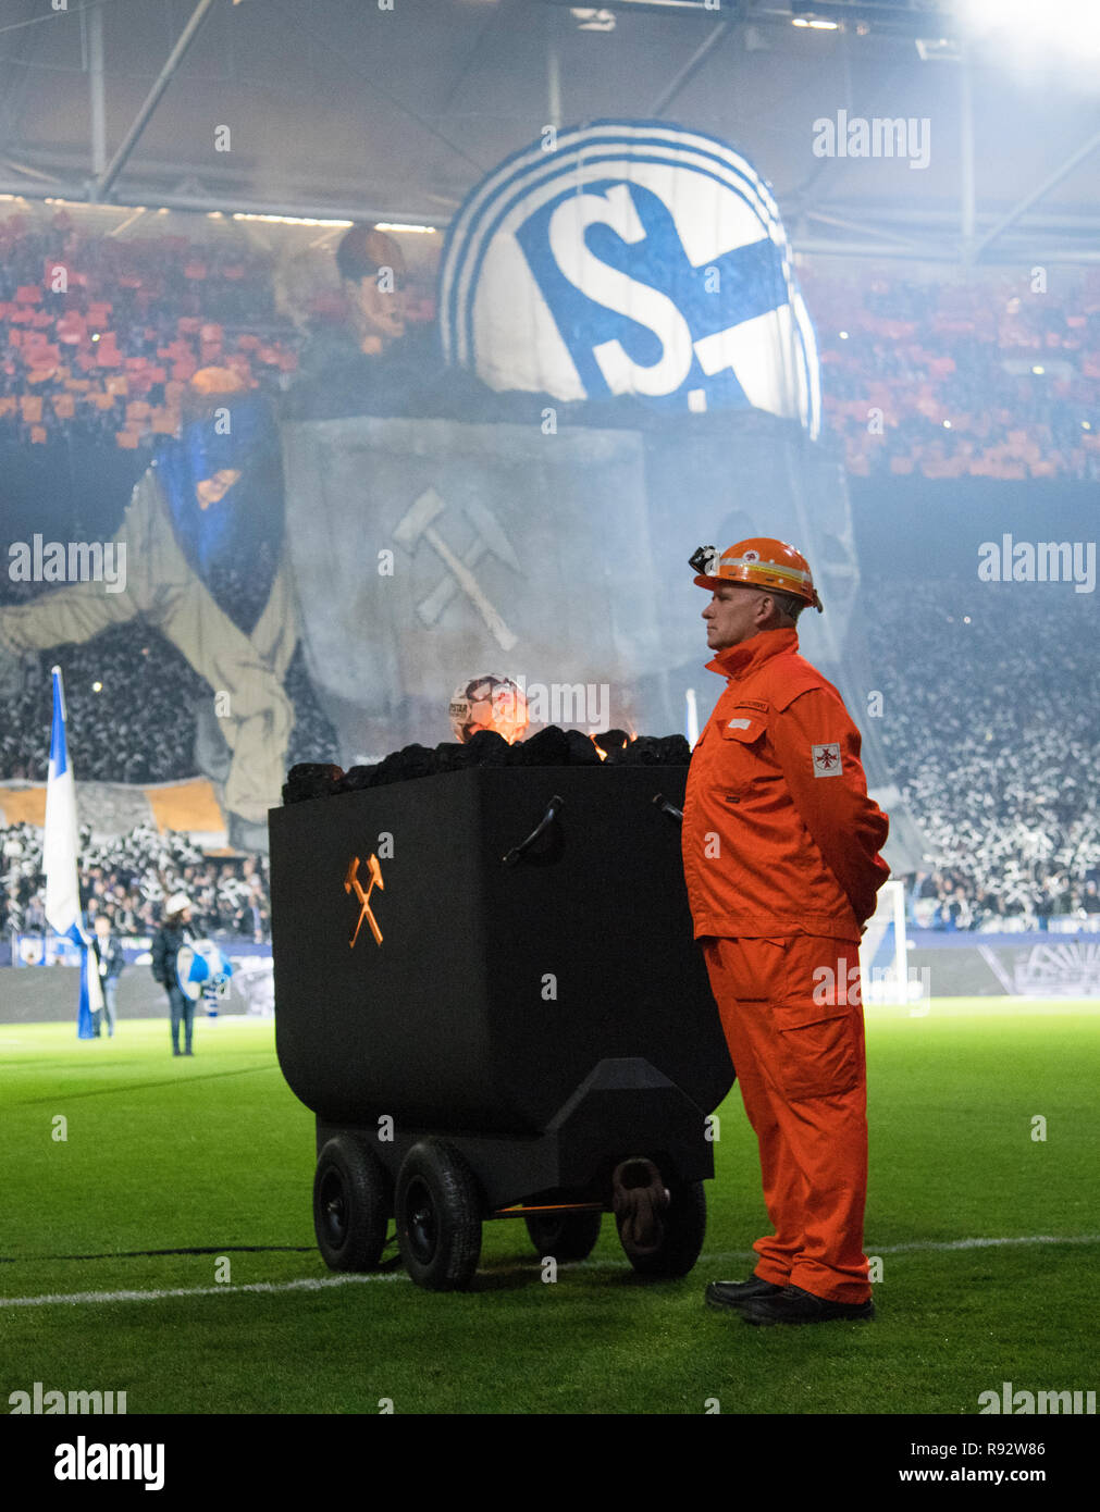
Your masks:
M306 653L345 761L371 721L449 739L449 696L481 671L625 688L655 664L637 435L356 417L284 448Z

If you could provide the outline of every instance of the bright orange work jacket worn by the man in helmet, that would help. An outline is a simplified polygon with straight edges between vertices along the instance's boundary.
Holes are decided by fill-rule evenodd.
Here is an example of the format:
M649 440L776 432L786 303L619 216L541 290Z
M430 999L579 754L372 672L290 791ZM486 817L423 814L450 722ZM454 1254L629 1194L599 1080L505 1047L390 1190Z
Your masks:
M859 732L797 655L793 629L719 652L729 679L691 754L684 880L694 937L858 943L890 875L890 821L867 797Z

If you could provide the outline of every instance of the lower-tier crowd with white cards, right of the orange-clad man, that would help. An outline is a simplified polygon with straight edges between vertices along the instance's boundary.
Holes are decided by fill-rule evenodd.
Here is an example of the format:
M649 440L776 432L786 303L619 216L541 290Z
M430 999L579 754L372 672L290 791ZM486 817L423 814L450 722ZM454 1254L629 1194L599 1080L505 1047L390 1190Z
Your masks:
M926 838L914 921L1046 928L1100 913L1091 596L1067 588L1052 605L1032 585L946 578L878 585L864 605L879 733Z

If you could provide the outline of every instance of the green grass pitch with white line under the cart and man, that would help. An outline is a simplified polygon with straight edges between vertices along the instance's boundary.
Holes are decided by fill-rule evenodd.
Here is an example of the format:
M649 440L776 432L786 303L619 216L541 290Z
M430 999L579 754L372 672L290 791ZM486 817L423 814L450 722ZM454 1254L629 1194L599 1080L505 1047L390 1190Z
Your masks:
M973 1414L1003 1380L1095 1388L1098 1027L1088 1002L870 1007L878 1320L754 1329L702 1302L749 1273L767 1223L737 1089L690 1276L639 1281L608 1216L592 1258L545 1282L524 1225L498 1222L474 1290L433 1294L401 1269L324 1267L313 1119L271 1022L203 1019L192 1060L165 1021L86 1043L0 1025L0 1411L36 1380L126 1391L132 1414ZM42 1296L83 1300L20 1302Z

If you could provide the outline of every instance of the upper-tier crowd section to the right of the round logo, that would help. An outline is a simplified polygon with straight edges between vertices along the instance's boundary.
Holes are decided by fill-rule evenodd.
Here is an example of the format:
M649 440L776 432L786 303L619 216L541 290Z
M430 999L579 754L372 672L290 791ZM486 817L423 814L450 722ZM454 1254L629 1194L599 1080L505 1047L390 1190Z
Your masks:
M800 278L850 473L1100 481L1100 274Z

